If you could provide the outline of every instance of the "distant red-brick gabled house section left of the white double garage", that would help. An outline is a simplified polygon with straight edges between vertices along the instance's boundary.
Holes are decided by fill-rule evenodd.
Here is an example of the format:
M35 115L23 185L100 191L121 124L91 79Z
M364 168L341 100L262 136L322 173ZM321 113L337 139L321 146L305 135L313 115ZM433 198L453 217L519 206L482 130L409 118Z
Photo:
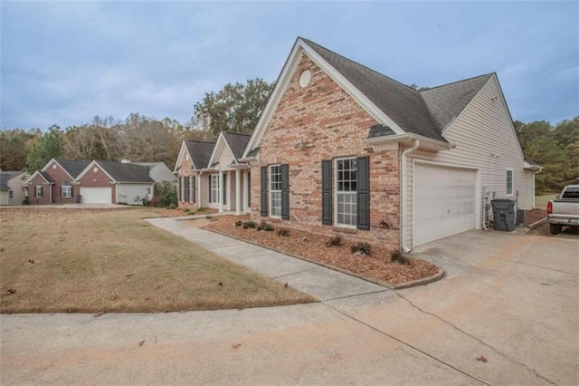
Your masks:
M71 204L77 201L79 187L74 180L89 165L88 161L51 159L26 181L31 205Z

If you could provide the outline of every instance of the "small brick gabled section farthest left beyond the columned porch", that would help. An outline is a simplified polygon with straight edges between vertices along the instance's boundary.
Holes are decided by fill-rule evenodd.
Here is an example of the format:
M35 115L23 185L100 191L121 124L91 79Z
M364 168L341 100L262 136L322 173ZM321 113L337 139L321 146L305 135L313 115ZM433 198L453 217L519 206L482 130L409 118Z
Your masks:
M208 203L209 175L204 175L215 143L202 140L184 140L179 150L174 173L178 179L179 207L203 207ZM206 194L202 192L207 191Z

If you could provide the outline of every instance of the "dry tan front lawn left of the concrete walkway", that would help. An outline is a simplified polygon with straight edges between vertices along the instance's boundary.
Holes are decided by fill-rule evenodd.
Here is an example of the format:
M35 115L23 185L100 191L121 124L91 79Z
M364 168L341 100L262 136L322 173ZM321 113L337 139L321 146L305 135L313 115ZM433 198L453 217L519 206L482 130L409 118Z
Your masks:
M156 214L3 208L0 312L166 312L314 301L144 217Z

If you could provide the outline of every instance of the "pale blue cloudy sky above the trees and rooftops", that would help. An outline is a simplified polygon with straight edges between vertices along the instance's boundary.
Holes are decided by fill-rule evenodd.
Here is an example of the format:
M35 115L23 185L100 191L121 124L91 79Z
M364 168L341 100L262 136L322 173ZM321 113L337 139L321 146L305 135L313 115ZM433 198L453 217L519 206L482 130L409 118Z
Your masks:
M185 122L205 92L274 82L297 36L397 81L497 72L514 120L579 115L579 2L5 1L0 128L140 112Z

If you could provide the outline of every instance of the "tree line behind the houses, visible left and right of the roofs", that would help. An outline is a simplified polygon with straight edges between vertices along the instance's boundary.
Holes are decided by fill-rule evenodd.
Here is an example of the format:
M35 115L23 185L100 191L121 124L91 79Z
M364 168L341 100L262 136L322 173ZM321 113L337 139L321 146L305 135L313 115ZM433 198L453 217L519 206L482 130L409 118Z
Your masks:
M42 169L52 158L176 163L183 140L216 140L222 130L251 133L268 101L273 83L256 78L228 83L206 92L185 123L157 120L131 113L121 121L96 116L90 123L62 130L0 131L0 169ZM579 183L579 116L551 125L547 121L514 121L523 152L543 167L536 175L536 192L559 191Z

